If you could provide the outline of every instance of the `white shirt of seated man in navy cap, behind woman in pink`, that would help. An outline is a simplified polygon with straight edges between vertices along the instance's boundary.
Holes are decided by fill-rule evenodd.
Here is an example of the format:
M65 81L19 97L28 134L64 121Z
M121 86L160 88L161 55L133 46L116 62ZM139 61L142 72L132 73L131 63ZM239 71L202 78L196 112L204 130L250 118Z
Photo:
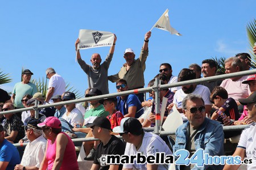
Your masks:
M69 124L72 126L77 124L77 122L82 125L84 124L84 117L82 117L82 113L79 111L79 109L74 108L68 116L67 112L68 111L66 111L61 118L64 118L64 120L66 120Z

